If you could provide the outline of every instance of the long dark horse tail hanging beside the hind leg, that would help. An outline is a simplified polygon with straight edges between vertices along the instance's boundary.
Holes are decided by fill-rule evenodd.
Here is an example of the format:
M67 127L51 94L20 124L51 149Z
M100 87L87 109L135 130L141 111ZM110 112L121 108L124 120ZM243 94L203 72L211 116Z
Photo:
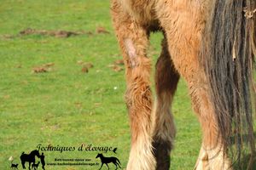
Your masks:
M255 0L212 1L202 39L201 64L210 84L218 135L224 150L229 150L236 162L241 161L244 150L248 149L251 158L254 152L255 32Z

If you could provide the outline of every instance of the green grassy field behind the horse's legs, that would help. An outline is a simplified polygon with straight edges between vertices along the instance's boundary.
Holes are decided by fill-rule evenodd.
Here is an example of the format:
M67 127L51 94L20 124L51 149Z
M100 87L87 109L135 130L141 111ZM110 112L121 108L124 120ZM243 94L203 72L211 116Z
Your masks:
M24 30L26 34L20 34ZM60 37L53 33L60 30L81 34ZM151 38L150 57L154 63L160 54L161 37L154 34ZM21 169L20 154L35 150L38 144L117 147L117 155L104 155L119 157L125 167L130 150L125 71L111 68L121 54L108 1L2 0L0 59L0 169L10 168L10 156ZM83 62L94 66L84 72ZM177 138L171 169L192 169L201 145L201 131L183 80L172 111ZM96 154L97 151L44 151L47 163L55 158L87 158L100 163ZM98 168L46 166L57 170Z

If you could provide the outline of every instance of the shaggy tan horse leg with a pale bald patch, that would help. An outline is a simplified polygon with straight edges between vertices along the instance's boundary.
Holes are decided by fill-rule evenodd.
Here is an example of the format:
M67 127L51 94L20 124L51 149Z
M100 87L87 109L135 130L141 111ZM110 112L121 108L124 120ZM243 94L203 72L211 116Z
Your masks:
M130 18L119 3L112 4L113 26L126 69L126 105L130 116L131 152L127 169L154 169L152 153L150 59L146 56L148 32Z

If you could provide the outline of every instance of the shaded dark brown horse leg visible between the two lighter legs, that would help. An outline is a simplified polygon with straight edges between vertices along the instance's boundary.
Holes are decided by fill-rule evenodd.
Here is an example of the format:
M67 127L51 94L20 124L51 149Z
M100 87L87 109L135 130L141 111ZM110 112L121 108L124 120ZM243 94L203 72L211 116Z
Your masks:
M175 127L170 111L179 75L168 52L166 39L162 42L162 52L155 68L156 103L154 108L153 146L156 169L169 169L170 152L175 137Z

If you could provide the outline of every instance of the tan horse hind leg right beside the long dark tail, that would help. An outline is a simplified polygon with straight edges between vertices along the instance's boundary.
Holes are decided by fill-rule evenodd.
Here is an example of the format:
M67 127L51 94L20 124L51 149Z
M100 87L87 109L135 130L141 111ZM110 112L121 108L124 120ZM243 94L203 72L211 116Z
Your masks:
M218 121L210 100L209 84L200 65L201 36L207 4L199 1L157 3L161 26L166 31L168 49L175 68L189 85L194 110L201 122L203 141L196 169L224 170L230 167L226 150L218 135ZM178 8L178 10L177 10Z

